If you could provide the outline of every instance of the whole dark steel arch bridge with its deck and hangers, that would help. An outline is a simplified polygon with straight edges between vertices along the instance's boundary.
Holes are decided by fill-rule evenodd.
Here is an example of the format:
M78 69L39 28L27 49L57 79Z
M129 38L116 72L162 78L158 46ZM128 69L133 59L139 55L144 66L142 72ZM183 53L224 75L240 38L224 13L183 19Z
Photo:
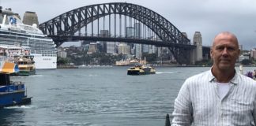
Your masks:
M134 22L139 22L150 31L153 35L156 35L158 39L141 39L140 36L130 37L124 35L123 37L116 36L116 15L125 16L125 28L126 17L134 19ZM111 29L111 15L115 15L115 28ZM109 32L107 35L100 35L99 33L99 19L108 16L109 20ZM97 20L97 34L93 35L93 29L95 28L93 22ZM119 20L119 21L122 21ZM92 35L88 35L88 24L92 24ZM120 29L121 24L120 24ZM190 45L190 39L187 39L185 35L178 28L176 28L170 21L162 17L160 14L147 9L143 6L138 6L126 2L111 2L96 4L91 6L83 6L77 9L70 10L69 12L62 13L58 17L40 24L40 29L44 34L54 39L55 44L60 46L66 41L72 40L98 40L98 41L110 41L110 42L126 42L126 43L143 43L156 46L167 46L175 59L179 64L190 64L190 52L194 50L193 45ZM85 34L81 35L81 28L85 28ZM104 24L105 28L105 24ZM111 35L111 30L115 32ZM149 32L148 30L148 32ZM96 30L95 30L96 31ZM122 30L119 30L119 32ZM78 32L78 35L76 33ZM146 31L145 31L146 32ZM145 33L149 34L149 33ZM146 36L146 35L145 35Z

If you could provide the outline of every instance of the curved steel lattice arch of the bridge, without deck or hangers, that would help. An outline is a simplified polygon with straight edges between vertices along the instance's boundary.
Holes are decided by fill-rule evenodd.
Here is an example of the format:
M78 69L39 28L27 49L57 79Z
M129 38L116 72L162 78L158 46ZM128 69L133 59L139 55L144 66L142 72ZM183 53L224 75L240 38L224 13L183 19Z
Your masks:
M187 39L178 28L160 14L131 3L111 2L83 6L40 24L40 29L50 37L56 35L72 36L94 20L111 14L124 15L139 20L150 28L162 42L170 43L171 46L168 48L180 64L189 64L190 50L194 48L194 46L190 46L190 39ZM179 57L180 55L183 55L183 58Z

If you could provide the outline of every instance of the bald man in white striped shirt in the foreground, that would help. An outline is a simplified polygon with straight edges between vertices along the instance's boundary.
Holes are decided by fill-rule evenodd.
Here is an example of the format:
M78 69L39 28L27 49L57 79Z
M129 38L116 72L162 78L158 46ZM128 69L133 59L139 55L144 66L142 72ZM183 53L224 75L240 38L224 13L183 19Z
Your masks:
M235 71L239 42L221 32L213 39L209 71L186 79L175 99L172 126L248 126L256 121L256 81Z

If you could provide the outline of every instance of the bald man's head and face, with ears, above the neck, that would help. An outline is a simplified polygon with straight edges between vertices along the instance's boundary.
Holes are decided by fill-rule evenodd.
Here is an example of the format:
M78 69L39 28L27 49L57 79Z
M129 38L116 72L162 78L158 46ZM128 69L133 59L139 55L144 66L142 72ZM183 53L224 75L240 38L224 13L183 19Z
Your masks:
M213 67L220 71L233 70L239 53L240 50L235 36L231 34L217 35L211 49Z

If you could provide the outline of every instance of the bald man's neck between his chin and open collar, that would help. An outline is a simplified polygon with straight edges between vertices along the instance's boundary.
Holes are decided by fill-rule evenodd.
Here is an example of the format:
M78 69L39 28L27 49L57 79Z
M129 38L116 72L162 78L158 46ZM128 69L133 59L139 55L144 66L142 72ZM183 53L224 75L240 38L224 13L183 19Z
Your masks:
M220 70L213 67L211 71L219 83L228 83L235 76L235 69Z

